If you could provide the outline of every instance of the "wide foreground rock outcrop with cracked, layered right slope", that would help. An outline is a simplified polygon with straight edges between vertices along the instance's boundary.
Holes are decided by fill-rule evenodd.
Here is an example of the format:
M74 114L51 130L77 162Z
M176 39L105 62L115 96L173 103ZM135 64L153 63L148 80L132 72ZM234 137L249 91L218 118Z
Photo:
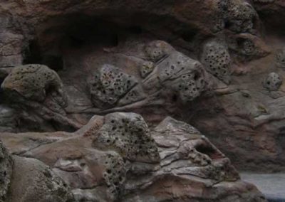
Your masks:
M93 117L74 133L2 133L0 138L13 154L51 166L71 186L75 201L266 201L197 129L171 117L149 129L140 115L115 112ZM14 159L19 158L16 169L29 169L24 162L36 161ZM50 171L43 174L57 181ZM58 194L53 201L63 198Z

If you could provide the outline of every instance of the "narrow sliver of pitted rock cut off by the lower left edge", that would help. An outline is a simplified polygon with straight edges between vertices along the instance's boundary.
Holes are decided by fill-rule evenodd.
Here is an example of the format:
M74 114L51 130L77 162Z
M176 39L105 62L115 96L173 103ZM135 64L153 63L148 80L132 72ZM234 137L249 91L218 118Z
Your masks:
M11 184L13 159L4 144L0 141L0 201L6 201Z

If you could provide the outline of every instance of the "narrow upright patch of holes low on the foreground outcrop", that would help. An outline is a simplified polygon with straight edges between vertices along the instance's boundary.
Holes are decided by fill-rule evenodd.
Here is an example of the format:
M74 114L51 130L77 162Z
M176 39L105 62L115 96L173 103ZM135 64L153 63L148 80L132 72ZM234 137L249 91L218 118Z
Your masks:
M107 154L105 159L106 169L103 172L103 178L105 179L108 193L112 199L117 199L123 189L127 172L125 167L123 158L118 155Z

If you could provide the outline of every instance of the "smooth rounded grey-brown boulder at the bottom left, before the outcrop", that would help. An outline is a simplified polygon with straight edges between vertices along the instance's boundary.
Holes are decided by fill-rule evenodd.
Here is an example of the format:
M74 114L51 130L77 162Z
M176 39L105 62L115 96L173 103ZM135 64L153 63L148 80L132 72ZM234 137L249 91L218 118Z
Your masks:
M74 201L67 184L41 161L20 156L13 159L13 177L7 201Z

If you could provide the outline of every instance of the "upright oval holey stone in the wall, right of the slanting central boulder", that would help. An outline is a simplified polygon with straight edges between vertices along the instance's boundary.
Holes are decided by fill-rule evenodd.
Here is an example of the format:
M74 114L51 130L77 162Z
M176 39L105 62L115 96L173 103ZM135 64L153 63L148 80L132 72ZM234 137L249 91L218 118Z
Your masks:
M227 46L217 41L210 41L203 48L201 60L209 73L224 83L229 83L231 60Z

